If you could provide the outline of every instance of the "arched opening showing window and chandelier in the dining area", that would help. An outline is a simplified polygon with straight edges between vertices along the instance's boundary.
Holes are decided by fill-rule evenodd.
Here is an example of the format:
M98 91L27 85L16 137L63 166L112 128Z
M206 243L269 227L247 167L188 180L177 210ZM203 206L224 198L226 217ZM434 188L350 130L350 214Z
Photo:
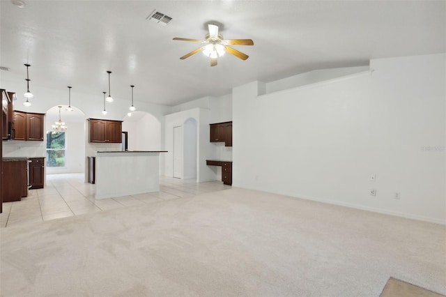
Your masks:
M59 107L47 110L46 127L46 174L67 174L85 172L85 119L82 110L72 107L67 111L67 105L61 106L60 119L67 129L55 131L52 125L59 121Z

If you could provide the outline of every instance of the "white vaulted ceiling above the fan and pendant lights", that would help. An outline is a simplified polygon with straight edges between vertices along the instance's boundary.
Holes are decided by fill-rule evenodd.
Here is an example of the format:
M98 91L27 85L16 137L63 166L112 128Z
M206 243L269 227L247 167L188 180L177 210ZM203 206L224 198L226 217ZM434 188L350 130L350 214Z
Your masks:
M38 1L1 0L1 61L32 86L177 105L231 93L309 70L362 66L369 59L446 52L445 1ZM146 20L154 10L173 20ZM225 39L249 55L226 54L210 67L203 54L179 57L203 39L204 24L224 24ZM25 86L24 81L24 86Z

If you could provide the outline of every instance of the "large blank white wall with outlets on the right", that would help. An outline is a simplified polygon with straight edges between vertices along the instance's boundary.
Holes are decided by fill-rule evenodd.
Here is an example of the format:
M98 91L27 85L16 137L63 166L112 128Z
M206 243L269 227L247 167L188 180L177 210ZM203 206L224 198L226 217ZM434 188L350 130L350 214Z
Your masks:
M445 54L370 67L263 96L261 82L234 88L233 185L444 224Z

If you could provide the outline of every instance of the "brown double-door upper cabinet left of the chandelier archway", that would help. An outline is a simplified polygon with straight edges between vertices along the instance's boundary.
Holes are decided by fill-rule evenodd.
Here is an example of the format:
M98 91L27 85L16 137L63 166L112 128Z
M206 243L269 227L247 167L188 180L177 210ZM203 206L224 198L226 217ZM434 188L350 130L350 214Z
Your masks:
M43 142L44 121L45 114L15 110L11 139Z

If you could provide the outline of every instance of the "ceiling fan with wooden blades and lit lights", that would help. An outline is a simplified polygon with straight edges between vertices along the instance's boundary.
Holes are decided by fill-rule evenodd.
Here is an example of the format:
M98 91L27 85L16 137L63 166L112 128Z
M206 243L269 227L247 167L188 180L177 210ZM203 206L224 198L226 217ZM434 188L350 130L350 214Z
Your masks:
M199 47L197 50L193 50L180 57L181 60L189 58L192 54L197 54L197 52L203 52L206 56L210 58L210 66L217 65L217 58L223 56L225 52L236 56L239 59L246 60L248 59L247 54L243 54L243 52L239 52L228 45L254 45L254 42L251 39L223 39L218 33L218 26L216 24L208 24L209 33L206 34L204 40L199 39L190 39L190 38L179 38L176 37L174 40L183 40L183 41L192 41L194 43L203 43L202 47Z

